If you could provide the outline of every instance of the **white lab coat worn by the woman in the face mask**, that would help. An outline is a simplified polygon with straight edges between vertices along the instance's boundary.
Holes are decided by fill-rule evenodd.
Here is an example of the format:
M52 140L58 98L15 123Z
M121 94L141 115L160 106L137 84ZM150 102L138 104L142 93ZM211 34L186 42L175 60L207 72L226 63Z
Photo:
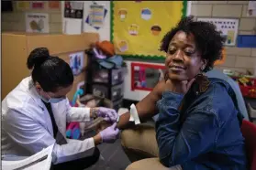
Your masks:
M61 134L59 137L57 135L56 140L50 114L33 86L31 77L22 80L2 101L2 155L36 154L55 143L52 163L59 164L82 158L85 151L95 147L93 138L83 141L66 139L66 144L58 144L58 140L66 136L66 122L91 120L89 108L73 108L68 99L51 104L51 108Z

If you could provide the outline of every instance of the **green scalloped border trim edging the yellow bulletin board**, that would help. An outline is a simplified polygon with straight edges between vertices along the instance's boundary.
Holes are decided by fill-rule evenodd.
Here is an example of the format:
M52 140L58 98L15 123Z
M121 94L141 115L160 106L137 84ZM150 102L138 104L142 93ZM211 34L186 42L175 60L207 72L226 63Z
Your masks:
M186 16L187 12L187 0L184 0L183 3L183 17ZM110 1L110 42L113 43L114 39L114 1ZM144 56L144 55L121 55L123 58L126 59L150 59L150 60L161 60L163 61L165 59L164 56Z

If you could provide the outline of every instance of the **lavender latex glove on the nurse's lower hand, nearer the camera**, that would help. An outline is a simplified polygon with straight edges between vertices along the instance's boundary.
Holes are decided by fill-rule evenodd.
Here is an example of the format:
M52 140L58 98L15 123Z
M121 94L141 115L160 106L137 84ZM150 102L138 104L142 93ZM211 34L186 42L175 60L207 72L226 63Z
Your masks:
M100 132L100 136L103 143L115 143L119 134L117 128L117 122L114 122L111 126Z

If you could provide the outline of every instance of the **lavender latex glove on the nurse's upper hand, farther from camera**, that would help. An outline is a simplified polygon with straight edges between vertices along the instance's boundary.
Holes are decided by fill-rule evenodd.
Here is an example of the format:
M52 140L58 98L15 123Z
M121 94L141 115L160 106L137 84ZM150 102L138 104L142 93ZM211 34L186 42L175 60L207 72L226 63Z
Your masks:
M104 118L106 122L117 122L118 113L114 109L99 107L97 116Z

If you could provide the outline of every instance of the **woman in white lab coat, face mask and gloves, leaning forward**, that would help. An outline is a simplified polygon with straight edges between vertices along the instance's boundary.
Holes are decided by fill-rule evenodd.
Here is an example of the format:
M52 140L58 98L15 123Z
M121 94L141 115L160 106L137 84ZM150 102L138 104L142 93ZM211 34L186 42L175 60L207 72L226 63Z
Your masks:
M102 107L71 107L66 94L72 90L72 69L63 59L51 57L47 48L34 49L27 65L32 69L31 76L2 101L2 159L36 154L54 143L55 167L94 164L98 158L95 153L99 155L95 146L117 139L117 112ZM89 122L98 116L113 125L83 141L65 138L67 122ZM90 149L93 157L86 156Z

